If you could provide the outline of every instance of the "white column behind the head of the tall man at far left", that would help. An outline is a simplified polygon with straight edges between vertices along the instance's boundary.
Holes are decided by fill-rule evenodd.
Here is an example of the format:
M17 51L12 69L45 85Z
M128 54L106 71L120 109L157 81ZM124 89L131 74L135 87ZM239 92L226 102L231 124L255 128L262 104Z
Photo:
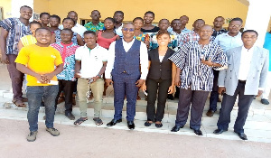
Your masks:
M12 0L12 17L20 17L20 7L23 5L30 6L33 9L33 0ZM33 20L33 17L30 21Z

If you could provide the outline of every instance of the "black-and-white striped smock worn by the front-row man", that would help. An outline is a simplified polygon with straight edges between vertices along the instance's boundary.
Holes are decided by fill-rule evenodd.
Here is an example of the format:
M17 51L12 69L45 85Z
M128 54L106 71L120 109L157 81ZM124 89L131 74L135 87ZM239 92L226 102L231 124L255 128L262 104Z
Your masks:
M181 88L192 88L192 90L211 91L213 86L213 68L201 62L202 58L210 59L221 67L228 65L227 56L221 47L210 42L201 47L199 42L188 42L183 44L179 51L173 54L169 60L182 70Z

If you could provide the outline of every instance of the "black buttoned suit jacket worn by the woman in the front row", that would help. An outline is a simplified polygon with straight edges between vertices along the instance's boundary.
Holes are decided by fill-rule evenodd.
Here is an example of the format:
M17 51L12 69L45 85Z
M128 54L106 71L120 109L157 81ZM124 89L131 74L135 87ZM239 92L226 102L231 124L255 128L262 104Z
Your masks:
M162 62L159 60L158 48L148 51L149 60L151 61L147 78L149 79L172 79L172 63L168 60L175 51L167 49Z

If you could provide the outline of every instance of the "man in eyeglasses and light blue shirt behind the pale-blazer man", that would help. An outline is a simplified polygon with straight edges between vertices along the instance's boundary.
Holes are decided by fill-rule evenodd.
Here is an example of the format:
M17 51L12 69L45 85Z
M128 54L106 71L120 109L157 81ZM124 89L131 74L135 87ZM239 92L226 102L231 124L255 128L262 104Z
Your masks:
M243 45L243 42L241 40L241 33L239 32L242 28L242 23L242 19L238 17L233 18L229 23L229 32L222 33L215 38L214 42L219 44L224 52L228 51L229 49ZM210 95L210 108L207 111L206 116L213 116L214 113L217 111L217 103L219 100L218 73L219 71L214 72L214 87Z

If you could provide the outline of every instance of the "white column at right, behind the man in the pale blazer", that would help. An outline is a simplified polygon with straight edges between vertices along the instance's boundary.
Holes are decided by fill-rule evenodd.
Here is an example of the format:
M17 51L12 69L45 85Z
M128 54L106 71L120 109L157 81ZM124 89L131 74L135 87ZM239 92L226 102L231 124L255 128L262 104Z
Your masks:
M255 30L258 33L256 45L262 47L271 16L270 0L249 0L248 16L244 30Z

